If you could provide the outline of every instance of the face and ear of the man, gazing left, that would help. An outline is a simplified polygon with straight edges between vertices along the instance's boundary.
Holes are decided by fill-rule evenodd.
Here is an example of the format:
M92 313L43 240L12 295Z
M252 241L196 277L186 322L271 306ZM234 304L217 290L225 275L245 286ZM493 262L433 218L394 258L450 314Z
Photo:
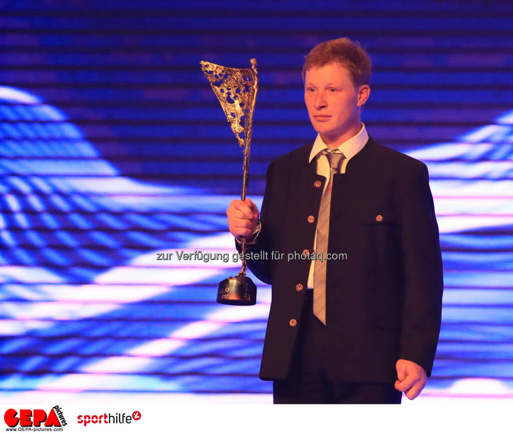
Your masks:
M349 71L338 62L306 71L308 116L326 144L348 140L360 131L360 106L368 97L368 91L362 92L362 88L369 86L356 89Z

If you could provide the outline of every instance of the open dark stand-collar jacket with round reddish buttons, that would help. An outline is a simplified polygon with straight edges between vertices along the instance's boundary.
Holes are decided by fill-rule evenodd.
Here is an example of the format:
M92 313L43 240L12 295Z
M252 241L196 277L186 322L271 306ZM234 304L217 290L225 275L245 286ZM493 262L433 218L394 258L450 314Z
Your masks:
M311 146L269 165L262 230L246 249L268 253L267 260L248 261L272 285L263 380L287 378L294 362L310 259L289 261L288 253L312 251L326 181L317 175L315 159L308 163ZM326 270L329 379L394 382L398 359L416 362L430 376L443 276L428 182L424 163L370 137L345 174L333 176L328 253L347 258L329 260ZM271 260L271 251L284 253L283 259Z

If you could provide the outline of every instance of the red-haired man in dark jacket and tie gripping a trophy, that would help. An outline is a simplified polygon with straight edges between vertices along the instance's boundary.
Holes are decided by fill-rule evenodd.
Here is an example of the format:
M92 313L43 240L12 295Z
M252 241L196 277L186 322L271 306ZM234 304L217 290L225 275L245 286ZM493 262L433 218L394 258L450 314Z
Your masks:
M233 200L231 233L272 285L260 378L274 403L400 403L431 374L442 260L427 167L368 135L371 64L347 38L305 58L315 142L271 162L257 207ZM292 254L292 256L290 255Z

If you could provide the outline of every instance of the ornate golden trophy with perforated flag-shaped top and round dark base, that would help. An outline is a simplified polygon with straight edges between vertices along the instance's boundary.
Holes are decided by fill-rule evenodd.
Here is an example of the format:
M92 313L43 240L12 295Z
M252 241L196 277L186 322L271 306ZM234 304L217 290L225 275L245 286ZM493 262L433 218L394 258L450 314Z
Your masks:
M243 181L241 200L246 199L248 189L249 151L251 149L251 127L257 99L258 76L257 60L251 59L251 69L225 68L219 64L201 61L201 69L231 125L233 134L244 147ZM242 238L242 253L245 254L245 239ZM218 286L220 304L255 305L257 286L246 276L246 259L242 259L242 269L234 277L224 279Z

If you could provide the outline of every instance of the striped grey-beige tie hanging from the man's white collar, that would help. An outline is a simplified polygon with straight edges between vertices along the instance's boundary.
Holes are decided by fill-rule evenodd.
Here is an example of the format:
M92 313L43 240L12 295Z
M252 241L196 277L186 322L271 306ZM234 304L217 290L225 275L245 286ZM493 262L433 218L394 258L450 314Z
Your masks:
M339 167L344 154L339 149L323 150L323 155L328 158L330 172L329 182L321 199L319 217L317 219L317 241L315 244L315 255L322 253L324 259L315 260L313 268L313 314L326 324L326 254L328 252L329 233L329 209L331 204L331 185L333 175L339 172Z

